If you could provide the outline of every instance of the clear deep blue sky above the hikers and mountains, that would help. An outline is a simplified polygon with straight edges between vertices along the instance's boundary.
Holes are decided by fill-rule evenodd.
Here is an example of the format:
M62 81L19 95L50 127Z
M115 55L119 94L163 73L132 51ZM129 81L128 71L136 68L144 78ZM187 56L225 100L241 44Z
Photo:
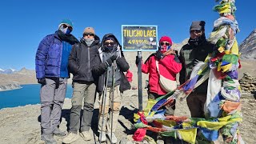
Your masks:
M122 3L121 3L122 2ZM87 26L93 26L100 38L113 33L121 42L122 25L157 25L158 38L170 36L175 43L189 37L192 21L206 22L206 37L213 29L218 13L214 0L3 0L0 6L0 68L22 67L34 70L34 56L39 42L58 29L63 18L74 22L72 34L81 38ZM240 44L256 28L256 1L237 0L236 18Z

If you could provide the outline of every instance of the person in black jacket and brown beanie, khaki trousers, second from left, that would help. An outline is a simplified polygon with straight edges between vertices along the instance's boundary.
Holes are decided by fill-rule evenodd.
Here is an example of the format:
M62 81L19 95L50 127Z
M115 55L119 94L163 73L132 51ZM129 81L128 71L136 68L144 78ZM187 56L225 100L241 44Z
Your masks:
M81 127L81 137L90 141L92 135L89 133L90 123L94 111L96 85L92 74L92 66L98 57L99 38L94 28L86 27L83 32L81 43L75 44L69 58L70 72L73 77L72 107L70 110L70 131L64 143L71 143L79 138L78 130ZM80 126L80 112L83 101L83 114Z

